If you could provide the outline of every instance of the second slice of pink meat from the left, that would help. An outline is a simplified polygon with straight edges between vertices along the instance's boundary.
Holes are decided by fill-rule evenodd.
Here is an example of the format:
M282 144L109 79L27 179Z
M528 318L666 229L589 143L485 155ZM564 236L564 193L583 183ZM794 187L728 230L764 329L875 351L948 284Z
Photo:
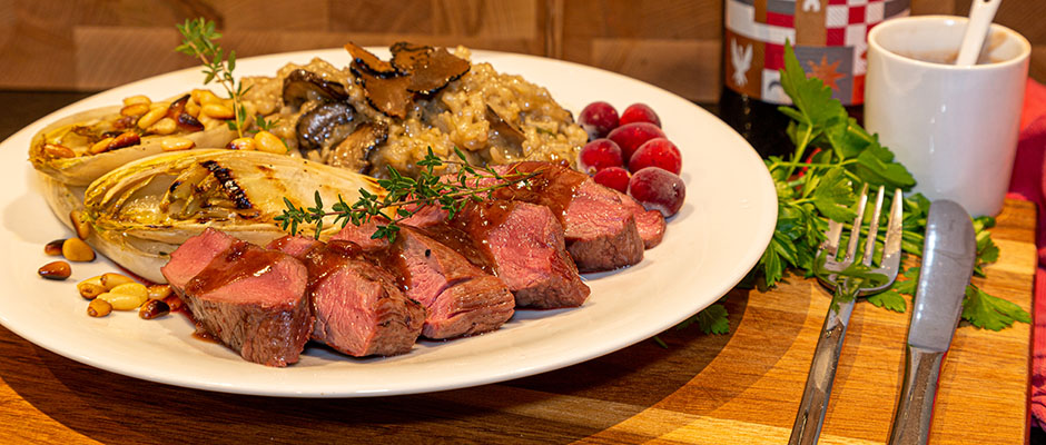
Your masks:
M364 258L358 245L284 237L270 246L298 255L308 269L313 339L354 357L404 354L414 346L425 308L403 294L395 275Z

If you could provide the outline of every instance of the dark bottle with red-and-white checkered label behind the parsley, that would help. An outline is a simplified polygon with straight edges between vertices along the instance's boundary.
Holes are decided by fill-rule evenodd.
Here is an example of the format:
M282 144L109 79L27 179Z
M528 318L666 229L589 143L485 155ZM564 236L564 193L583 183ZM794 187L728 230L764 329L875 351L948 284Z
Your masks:
M851 115L865 97L868 31L909 13L910 0L724 0L720 118L762 157L792 151L778 111L791 103L781 88L784 42L807 76L831 87Z

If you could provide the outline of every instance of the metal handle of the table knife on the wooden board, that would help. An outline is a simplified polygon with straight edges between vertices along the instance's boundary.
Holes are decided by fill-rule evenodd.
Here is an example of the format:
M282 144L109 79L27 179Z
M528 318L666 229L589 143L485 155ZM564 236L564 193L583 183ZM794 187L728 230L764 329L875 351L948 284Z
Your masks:
M889 445L926 444L934 418L937 378L945 353L908 345L905 353L905 382L894 413Z

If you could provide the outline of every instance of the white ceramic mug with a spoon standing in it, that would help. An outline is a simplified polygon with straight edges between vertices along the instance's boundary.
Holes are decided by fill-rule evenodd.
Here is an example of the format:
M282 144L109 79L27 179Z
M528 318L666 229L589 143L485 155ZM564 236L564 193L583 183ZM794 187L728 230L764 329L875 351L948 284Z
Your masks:
M1009 186L1032 44L991 24L983 63L948 65L966 22L917 16L872 28L865 127L908 167L914 191L951 199L974 216L994 216Z

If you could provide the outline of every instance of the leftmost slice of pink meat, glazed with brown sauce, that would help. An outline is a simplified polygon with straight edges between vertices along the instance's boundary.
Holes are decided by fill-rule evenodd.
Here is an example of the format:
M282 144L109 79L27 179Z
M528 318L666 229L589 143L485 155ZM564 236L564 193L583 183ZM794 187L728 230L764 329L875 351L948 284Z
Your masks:
M298 360L312 319L308 275L297 259L207 229L160 270L196 322L244 359L278 367Z

